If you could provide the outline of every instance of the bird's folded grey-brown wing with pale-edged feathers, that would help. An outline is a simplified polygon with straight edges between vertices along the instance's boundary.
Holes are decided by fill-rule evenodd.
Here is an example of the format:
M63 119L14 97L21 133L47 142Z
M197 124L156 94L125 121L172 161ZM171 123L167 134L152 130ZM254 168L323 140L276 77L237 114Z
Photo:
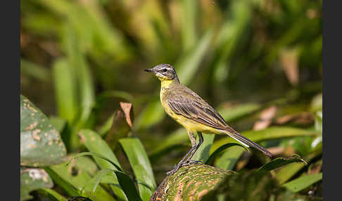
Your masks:
M227 123L223 117L190 89L186 89L182 93L172 93L167 97L167 104L176 114L192 119L195 122L216 129L227 128Z

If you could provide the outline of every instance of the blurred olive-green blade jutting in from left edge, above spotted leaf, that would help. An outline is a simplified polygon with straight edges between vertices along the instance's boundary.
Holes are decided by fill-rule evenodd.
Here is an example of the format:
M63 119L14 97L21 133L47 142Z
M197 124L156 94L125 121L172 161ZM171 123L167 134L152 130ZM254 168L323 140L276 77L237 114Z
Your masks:
M20 73L39 79L42 82L51 82L49 68L42 67L25 59L20 59Z

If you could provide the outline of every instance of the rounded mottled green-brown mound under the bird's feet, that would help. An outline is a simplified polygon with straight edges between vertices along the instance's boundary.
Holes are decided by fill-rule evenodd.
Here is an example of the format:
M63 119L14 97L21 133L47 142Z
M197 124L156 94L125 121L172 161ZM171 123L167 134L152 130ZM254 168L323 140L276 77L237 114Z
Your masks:
M201 200L225 176L234 174L206 164L190 164L165 177L150 198L152 200Z

